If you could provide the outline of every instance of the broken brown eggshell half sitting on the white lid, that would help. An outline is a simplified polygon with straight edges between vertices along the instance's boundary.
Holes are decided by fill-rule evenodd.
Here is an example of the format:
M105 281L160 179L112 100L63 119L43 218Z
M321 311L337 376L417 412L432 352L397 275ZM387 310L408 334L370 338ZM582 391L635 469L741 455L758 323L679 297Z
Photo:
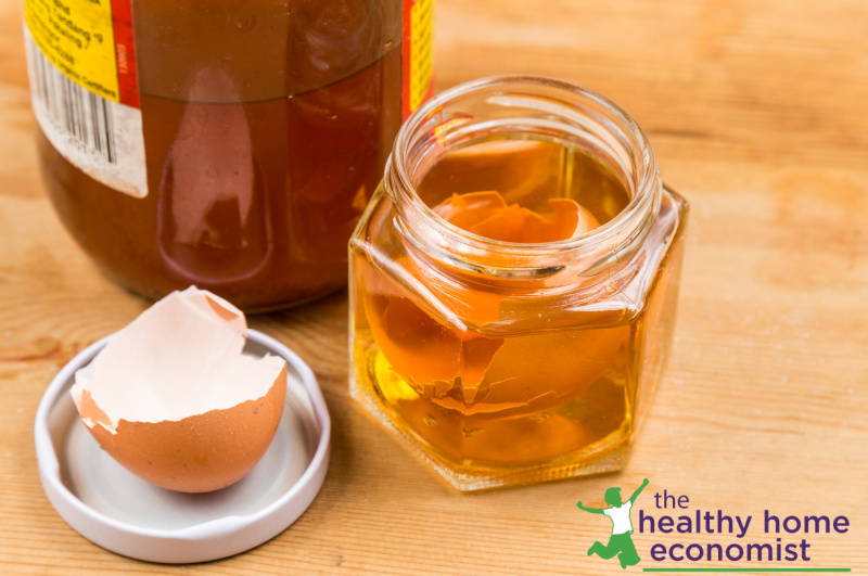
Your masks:
M244 315L195 287L174 292L119 331L71 393L117 462L164 488L203 492L241 479L283 414L286 362L242 354Z

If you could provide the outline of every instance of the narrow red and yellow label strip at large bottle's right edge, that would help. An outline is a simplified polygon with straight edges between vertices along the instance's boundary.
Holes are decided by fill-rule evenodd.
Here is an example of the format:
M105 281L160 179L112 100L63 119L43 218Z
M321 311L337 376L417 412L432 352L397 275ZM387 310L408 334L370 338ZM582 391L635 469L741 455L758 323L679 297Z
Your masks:
M406 119L434 92L434 0L404 0L404 110Z

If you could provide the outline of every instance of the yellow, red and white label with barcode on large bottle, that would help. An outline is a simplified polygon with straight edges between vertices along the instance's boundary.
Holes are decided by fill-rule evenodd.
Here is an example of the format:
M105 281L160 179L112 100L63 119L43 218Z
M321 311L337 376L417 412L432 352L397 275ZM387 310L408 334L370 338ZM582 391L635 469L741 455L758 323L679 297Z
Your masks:
M85 174L148 195L130 0L23 0L34 115Z

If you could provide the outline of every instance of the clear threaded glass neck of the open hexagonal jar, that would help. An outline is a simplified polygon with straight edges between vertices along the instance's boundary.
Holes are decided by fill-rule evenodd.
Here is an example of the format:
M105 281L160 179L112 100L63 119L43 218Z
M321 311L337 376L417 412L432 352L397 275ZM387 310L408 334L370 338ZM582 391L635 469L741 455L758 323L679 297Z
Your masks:
M497 108L498 120L477 121L474 111ZM465 110L462 110L465 108ZM516 110L510 118L509 111ZM518 117L518 112L523 115ZM529 114L528 114L529 113ZM489 129L505 140L550 130L565 130L596 143L628 184L627 205L609 221L582 235L545 243L515 243L470 233L443 219L416 191L417 171L433 148ZM448 144L447 144L448 145ZM391 177L391 178L390 178ZM391 181L390 181L391 180ZM660 203L660 176L650 141L638 123L612 100L582 86L545 76L509 75L483 78L446 90L419 107L395 139L386 167L387 188L398 195L399 212L413 213L431 232L451 246L471 253L533 256L584 253L612 243L633 243ZM391 184L391 185L390 185ZM412 218L416 216L417 218ZM413 230L419 232L419 230ZM624 238L624 236L628 238Z

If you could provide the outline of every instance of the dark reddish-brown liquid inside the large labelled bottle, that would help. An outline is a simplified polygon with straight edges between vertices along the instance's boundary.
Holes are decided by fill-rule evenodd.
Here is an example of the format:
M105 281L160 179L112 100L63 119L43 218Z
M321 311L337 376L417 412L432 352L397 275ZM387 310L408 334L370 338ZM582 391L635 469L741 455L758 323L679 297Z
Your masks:
M399 5L133 2L149 193L98 182L40 133L61 219L151 298L196 284L269 309L343 286L400 125Z

